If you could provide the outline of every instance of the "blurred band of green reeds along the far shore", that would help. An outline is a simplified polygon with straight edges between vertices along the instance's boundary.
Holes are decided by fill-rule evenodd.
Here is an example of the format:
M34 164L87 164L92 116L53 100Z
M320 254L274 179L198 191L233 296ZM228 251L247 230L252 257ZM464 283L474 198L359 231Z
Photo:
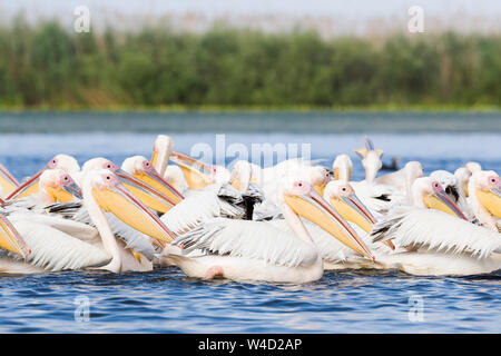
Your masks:
M0 107L500 107L501 36L0 28Z

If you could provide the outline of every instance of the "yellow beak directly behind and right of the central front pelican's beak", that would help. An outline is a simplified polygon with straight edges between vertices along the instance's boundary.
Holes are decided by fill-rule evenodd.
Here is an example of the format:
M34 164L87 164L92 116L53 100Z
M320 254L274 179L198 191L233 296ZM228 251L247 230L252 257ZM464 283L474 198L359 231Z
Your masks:
M346 197L331 198L330 202L343 218L356 224L365 233L371 233L372 226L376 222L376 219L355 194L351 194ZM392 241L386 240L384 243L391 249L395 249Z

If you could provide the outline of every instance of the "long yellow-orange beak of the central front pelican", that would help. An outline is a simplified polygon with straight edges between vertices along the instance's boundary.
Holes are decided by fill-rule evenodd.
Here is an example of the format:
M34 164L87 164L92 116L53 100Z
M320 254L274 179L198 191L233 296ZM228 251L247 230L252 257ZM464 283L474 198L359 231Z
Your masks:
M314 189L308 194L284 195L286 204L295 214L318 225L325 231L338 239L345 246L352 248L362 256L374 260L371 250L365 246L355 230L343 217L332 208Z

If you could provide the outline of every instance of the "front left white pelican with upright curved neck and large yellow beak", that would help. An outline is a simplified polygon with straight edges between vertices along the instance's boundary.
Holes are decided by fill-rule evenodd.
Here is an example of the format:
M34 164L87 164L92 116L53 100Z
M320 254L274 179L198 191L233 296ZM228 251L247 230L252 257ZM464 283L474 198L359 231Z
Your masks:
M112 212L134 229L154 239L170 243L173 234L165 225L109 170L86 172L82 180L82 196L84 205L99 231L98 235L94 234L92 228L87 227L89 235L76 238L45 224L33 222L31 220L33 215L12 214L9 220L6 218L11 226L0 221L2 233L8 235L8 240L14 241L17 246L28 247L24 250L22 248L7 249L22 256L26 261L12 258L11 255L3 256L0 258L0 269L19 273L23 270L23 265L27 271L33 271L33 266L41 270L99 267L114 273L151 269L150 263L139 261L125 243L117 241L102 210ZM77 222L75 224L78 226ZM28 248L30 251L27 254ZM13 267L10 269L10 266Z

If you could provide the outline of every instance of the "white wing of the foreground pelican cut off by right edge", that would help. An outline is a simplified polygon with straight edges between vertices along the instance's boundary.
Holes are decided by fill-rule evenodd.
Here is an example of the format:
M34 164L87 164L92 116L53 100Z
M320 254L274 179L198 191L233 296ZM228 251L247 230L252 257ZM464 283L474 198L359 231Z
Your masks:
M439 210L409 208L377 222L373 241L393 239L399 246L418 246L440 253L469 253L479 258L501 247L501 236Z

